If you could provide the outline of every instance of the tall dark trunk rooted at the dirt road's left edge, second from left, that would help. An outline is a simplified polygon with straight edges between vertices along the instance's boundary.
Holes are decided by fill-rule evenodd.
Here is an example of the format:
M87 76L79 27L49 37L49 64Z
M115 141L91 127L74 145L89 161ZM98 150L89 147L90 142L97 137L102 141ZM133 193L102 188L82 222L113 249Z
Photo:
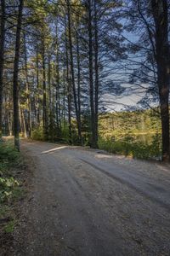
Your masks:
M14 77L13 77L13 101L14 101L14 146L20 151L20 122L19 122L19 61L20 61L20 32L22 26L22 11L24 0L20 0L17 20L15 54L14 54Z

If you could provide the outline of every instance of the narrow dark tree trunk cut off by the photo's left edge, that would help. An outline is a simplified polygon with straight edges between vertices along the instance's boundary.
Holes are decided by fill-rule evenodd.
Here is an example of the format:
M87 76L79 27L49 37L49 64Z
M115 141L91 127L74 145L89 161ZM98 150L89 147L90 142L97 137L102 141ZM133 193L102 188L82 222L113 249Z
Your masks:
M0 25L0 139L3 136L3 57L5 42L5 0L1 0L1 25Z

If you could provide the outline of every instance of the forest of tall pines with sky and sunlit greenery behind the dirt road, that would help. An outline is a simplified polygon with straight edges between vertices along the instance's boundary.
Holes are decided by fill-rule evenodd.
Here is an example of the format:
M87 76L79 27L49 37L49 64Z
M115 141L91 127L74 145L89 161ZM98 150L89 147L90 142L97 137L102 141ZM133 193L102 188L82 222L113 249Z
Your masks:
M1 0L0 137L14 135L18 150L30 137L169 160L169 10L167 0ZM153 137L138 142L141 132Z

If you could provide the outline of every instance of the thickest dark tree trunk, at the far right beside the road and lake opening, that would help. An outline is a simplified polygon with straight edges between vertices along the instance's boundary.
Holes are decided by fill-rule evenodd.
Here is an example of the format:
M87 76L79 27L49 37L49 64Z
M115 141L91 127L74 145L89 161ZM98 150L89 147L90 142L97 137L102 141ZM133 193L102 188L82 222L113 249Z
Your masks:
M161 107L162 160L170 160L169 144L169 78L168 64L170 58L168 44L167 0L151 1L152 13L156 27L156 63L157 84Z

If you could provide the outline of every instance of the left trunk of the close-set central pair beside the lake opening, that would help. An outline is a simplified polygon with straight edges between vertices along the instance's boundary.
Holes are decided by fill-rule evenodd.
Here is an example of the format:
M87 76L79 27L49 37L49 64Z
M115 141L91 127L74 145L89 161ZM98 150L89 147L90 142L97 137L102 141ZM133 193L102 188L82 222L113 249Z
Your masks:
M92 31L92 4L88 0L88 67L89 67L89 94L91 109L91 129L92 129L92 148L97 148L95 136L95 116L94 116L94 71L93 71L93 31Z

